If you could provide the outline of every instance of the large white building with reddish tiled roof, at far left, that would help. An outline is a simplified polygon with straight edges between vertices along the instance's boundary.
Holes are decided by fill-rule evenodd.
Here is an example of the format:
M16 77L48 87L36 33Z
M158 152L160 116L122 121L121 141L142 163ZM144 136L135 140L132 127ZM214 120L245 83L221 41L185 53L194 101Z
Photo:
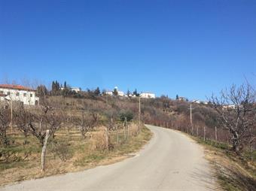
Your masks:
M0 101L23 102L24 105L38 105L35 90L20 85L0 84Z

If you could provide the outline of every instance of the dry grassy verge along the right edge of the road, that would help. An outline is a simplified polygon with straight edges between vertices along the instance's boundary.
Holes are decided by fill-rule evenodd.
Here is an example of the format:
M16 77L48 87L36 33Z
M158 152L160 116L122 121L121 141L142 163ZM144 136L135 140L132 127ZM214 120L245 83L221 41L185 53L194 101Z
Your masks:
M194 138L205 147L206 159L215 168L218 183L228 191L256 190L256 152L252 158L246 152L241 156L229 150L229 145Z

